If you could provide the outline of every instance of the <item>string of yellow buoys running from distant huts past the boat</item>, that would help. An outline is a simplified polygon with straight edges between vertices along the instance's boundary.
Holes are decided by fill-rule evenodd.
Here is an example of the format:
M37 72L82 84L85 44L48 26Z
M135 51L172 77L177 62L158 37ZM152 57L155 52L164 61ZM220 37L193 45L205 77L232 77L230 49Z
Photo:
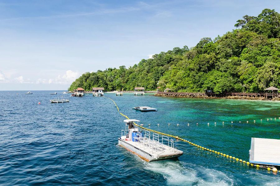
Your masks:
M104 97L105 97L105 96L104 96ZM118 107L118 105L116 104L116 102L115 102L114 100L112 100L111 98L108 98L108 97L105 97L105 98L107 98L107 99L113 101L113 103L116 105L116 107L117 107L117 109L118 109L119 114L122 115L122 116L124 116L124 117L126 117L127 119L129 119L129 117L127 117L126 115L124 115L123 113L121 113L121 112L119 111L119 107ZM280 118L279 118L279 119L280 119ZM257 169L259 169L259 167L260 167L258 164L252 164L252 163L246 162L245 160L242 160L242 159L240 159L240 158L237 158L237 157L234 157L234 156L230 156L230 155L228 155L228 154L221 153L221 152L218 152L218 151L209 149L209 148L205 148L205 147L202 147L202 146L200 146L200 145L198 145L198 144L194 144L194 143L192 143L192 142L190 142L190 141L188 141L188 140L186 140L186 139L179 138L179 136L174 136L174 135L170 135L170 134L165 134L165 133L162 133L162 132L159 132L159 131L155 131L155 130L152 130L152 129L148 129L148 128L145 128L145 127L143 127L143 126L137 125L136 123L134 123L134 125L136 125L136 126L142 128L142 129L144 129L144 130L147 130L147 131L152 131L152 132L155 132L155 133L157 133L157 134L161 134L161 135L173 137L173 138L175 138L175 139L178 139L178 140L184 141L184 142L186 142L186 143L189 143L190 145L193 145L193 146L195 146L195 147L197 147L197 148L201 148L202 150L206 150L206 151L209 151L209 152L212 152L212 153L221 155L221 156L223 156L223 157L236 160L236 162L240 162L240 163L243 163L243 164L247 164L248 166L256 167ZM270 171L271 168L268 167L267 170ZM278 170L277 170L277 168L273 168L272 171L273 171L273 172L277 172ZM279 170L279 172L280 172L280 170Z

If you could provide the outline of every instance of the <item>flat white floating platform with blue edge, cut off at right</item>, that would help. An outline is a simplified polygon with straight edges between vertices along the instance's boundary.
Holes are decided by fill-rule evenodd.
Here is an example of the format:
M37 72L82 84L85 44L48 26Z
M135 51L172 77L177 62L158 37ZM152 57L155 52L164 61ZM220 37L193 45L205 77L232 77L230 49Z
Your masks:
M249 162L280 166L280 139L252 138Z

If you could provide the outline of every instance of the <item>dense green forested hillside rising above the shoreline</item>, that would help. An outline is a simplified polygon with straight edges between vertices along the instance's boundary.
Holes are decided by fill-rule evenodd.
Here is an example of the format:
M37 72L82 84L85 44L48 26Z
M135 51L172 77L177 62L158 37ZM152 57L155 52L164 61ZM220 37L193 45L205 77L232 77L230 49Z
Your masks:
M155 90L161 86L172 91L220 93L280 88L280 14L264 9L256 17L243 16L235 26L222 37L202 38L190 49L175 47L128 69L120 66L84 73L70 90L133 90L135 86Z

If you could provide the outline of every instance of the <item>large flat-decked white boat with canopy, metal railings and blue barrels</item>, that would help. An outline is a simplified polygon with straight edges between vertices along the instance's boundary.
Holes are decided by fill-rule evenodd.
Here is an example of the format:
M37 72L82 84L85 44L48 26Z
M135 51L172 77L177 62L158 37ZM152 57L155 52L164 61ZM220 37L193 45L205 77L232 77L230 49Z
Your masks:
M168 136L159 136L150 131L141 131L133 124L138 122L136 119L125 119L125 129L118 139L119 145L128 151L136 154L147 162L165 160L179 157L183 151L174 148L174 141ZM128 129L127 129L128 127Z

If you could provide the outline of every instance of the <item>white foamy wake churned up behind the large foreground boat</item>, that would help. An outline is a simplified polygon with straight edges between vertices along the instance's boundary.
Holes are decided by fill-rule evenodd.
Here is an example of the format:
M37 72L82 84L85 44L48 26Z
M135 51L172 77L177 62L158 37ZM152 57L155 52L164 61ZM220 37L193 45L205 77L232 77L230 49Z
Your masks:
M184 162L145 162L145 165L146 169L162 174L167 180L168 185L234 185L234 181L220 171L194 166Z

